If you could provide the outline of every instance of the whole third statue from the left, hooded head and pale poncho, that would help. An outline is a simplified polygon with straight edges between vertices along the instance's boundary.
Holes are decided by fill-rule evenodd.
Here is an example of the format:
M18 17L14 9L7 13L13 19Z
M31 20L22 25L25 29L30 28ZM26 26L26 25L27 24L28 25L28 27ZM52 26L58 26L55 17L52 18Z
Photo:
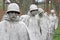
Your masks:
M42 15L42 16L41 16ZM39 8L39 14L36 15L36 18L40 22L41 32L42 32L42 40L47 40L48 34L48 18L44 15L44 11L42 8Z

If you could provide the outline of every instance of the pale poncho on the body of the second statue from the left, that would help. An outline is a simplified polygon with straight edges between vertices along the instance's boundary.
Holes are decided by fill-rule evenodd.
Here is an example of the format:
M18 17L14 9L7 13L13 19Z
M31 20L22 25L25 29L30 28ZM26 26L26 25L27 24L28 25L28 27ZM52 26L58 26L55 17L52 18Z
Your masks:
M31 40L41 40L41 28L39 21L35 17L30 17L28 20L28 29Z

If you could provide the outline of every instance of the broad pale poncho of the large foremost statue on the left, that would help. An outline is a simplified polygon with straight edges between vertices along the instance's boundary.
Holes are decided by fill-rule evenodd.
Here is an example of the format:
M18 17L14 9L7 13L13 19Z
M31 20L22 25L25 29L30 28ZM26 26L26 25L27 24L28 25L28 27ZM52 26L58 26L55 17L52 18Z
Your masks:
M29 40L23 22L0 22L0 40Z

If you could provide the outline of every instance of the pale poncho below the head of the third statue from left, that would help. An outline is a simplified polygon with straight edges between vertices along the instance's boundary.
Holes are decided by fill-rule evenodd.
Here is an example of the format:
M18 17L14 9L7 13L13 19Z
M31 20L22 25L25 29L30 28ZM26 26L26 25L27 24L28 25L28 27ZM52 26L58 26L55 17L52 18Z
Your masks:
M39 17L39 16L37 16L37 17ZM38 20L40 20L40 27L41 27L41 32L42 32L42 40L47 40L48 27L49 27L48 22L49 21L45 16L43 16L42 18L39 17Z

